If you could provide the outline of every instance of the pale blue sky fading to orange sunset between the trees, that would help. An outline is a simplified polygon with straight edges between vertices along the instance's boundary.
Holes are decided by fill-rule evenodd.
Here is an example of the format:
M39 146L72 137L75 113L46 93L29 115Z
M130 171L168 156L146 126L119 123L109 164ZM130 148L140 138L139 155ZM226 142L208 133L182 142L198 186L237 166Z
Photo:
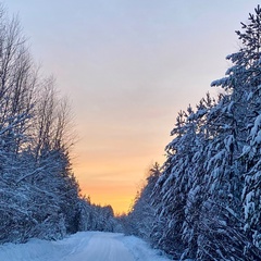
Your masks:
M127 212L165 160L179 110L224 76L256 0L5 0L41 74L71 100L73 169L94 203Z

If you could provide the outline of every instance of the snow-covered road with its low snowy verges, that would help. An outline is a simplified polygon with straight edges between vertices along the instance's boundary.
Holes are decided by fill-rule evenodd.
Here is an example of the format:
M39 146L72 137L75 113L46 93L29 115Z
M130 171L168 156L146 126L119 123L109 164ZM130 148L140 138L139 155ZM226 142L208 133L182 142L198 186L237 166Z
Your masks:
M79 232L58 241L32 239L0 246L1 261L167 261L134 236Z

